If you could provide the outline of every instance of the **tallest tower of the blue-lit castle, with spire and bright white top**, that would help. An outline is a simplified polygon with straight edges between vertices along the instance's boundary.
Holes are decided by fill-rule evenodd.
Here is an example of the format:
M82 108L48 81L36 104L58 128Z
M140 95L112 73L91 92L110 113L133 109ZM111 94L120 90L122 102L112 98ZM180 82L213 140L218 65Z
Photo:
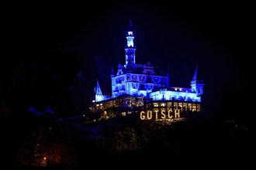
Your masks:
M136 51L136 46L134 46L134 34L133 34L133 28L132 28L132 22L130 21L130 31L126 33L126 39L127 39L127 44L125 46L125 51L126 51L126 65L133 65L135 64L135 51Z

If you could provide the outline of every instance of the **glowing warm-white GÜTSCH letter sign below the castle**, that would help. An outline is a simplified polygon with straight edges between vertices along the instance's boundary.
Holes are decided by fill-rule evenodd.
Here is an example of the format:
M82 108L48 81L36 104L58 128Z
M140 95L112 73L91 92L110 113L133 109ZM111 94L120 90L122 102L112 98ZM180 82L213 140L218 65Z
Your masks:
M140 120L151 120L151 119L173 119L180 117L180 110L147 110L140 112Z

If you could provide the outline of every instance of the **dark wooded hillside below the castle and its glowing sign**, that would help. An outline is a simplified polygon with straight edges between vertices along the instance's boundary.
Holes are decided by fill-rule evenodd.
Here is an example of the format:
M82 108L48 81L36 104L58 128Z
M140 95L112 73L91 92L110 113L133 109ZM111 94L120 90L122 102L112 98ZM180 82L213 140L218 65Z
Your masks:
M244 168L251 164L251 127L215 114L177 121L141 121L137 115L85 124L83 118L1 117L2 161L24 169Z

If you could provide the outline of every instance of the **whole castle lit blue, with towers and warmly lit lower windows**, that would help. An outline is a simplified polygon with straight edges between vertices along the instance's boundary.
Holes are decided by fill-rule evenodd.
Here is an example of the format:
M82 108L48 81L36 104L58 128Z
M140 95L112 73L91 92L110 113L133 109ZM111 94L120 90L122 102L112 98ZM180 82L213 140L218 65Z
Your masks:
M190 88L169 87L169 70L157 73L154 66L136 63L136 46L133 43L132 29L126 34L127 44L124 48L126 63L117 67L117 73L112 73L112 96L102 93L99 80L95 87L95 100L92 102L92 112L110 114L113 111L120 114L140 112L142 119L186 116L190 112L201 111L201 97L204 83L197 80L197 66L190 81ZM149 112L148 112L149 111ZM147 114L151 113L151 114ZM143 115L145 114L145 116ZM159 114L159 115L158 115ZM174 117L177 117L174 114Z

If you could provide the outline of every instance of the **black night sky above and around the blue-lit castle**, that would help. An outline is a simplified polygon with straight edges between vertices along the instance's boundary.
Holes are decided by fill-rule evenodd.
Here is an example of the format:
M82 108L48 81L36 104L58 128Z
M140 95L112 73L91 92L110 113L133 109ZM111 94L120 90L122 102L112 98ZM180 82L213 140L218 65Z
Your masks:
M6 22L8 52L2 57L2 72L17 58L43 59L46 56L42 54L47 53L74 53L81 57L84 76L88 77L85 90L92 93L96 75L109 76L111 66L116 68L118 63L125 63L125 35L131 19L137 63L150 62L164 69L169 66L171 86L190 87L198 63L199 77L205 81L206 110L218 109L225 88L239 91L243 98L249 97L250 5L86 3L9 6L2 21ZM106 62L102 68L107 70L95 69L98 67L92 62L99 61Z

